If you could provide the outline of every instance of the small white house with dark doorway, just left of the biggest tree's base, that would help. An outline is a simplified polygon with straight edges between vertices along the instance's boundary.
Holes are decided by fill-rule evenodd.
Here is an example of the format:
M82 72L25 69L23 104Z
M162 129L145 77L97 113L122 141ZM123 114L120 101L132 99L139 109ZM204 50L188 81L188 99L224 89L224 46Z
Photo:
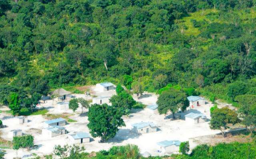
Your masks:
M76 143L89 143L90 142L90 135L89 133L85 132L77 132L74 134L68 135L68 138L71 143L76 144Z

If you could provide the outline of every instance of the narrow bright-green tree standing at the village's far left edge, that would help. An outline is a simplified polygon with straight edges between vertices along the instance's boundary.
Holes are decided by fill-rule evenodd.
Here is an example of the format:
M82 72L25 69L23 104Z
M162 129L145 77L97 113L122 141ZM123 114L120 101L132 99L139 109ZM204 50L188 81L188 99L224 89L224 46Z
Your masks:
M16 115L20 112L21 105L18 93L10 93L8 96L8 106L12 110L13 115Z

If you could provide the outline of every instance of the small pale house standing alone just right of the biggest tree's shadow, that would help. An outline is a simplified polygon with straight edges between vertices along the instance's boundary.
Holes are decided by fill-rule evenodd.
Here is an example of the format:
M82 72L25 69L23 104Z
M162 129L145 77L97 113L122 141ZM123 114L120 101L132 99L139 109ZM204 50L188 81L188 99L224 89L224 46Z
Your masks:
M138 134L152 133L157 131L157 127L152 122L140 122L132 124L132 131Z

